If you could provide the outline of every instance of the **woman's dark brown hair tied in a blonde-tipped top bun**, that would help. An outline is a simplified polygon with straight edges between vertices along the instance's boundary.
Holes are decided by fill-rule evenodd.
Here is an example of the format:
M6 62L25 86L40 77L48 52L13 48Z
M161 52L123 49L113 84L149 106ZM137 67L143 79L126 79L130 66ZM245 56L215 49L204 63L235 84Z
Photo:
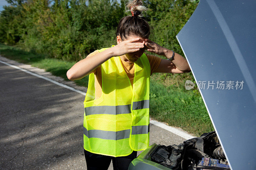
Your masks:
M116 36L121 36L121 39L127 39L130 35L148 38L150 35L150 26L142 17L142 12L146 11L146 7L142 5L142 1L129 1L126 5L127 11L133 11L134 16L126 16L119 21L116 29Z

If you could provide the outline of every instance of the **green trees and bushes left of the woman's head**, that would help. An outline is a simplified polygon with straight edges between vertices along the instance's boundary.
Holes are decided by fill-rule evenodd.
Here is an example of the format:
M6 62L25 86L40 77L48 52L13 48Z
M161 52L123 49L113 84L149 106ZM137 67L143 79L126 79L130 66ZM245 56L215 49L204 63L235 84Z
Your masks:
M68 61L115 44L116 26L124 16L124 3L116 0L8 2L14 6L1 12L0 42Z

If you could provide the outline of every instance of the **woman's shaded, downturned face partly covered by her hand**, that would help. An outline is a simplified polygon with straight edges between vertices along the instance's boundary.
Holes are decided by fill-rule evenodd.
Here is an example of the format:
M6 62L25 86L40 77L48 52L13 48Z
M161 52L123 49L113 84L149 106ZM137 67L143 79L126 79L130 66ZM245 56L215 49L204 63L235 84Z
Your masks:
M132 38L137 38L138 36L134 36L134 35L130 35L129 37L127 37L125 40L130 40ZM123 41L125 41L123 40ZM145 42L145 38L141 38L138 41L134 41L134 42ZM147 49L147 46L144 45L144 48L140 48L139 51L133 52L133 53L127 53L125 54L125 58L128 59L130 62L134 63L138 60L138 58L140 58L140 56L144 53L145 49Z

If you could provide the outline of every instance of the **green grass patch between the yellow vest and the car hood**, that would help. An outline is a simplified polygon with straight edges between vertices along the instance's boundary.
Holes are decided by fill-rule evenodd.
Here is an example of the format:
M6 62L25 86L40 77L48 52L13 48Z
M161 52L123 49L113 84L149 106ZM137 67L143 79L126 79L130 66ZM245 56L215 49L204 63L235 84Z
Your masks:
M170 126L180 127L196 136L213 131L212 122L201 96L193 91L180 89L165 87L163 84L151 81L149 106L151 117Z

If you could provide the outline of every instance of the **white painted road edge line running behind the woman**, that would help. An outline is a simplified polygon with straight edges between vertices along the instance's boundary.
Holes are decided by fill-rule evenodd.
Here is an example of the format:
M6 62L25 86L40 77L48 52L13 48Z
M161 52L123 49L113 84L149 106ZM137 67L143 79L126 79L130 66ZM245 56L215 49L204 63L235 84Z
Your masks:
M59 83L59 82L57 82L57 81L54 81L54 80L52 80L52 79L50 79L50 78L46 78L46 77L41 76L41 75L39 75L39 74L36 74L36 73L31 72L31 71L22 69L22 68L20 68L20 67L18 67L18 66L16 66L16 65L12 65L12 64L6 63L6 62L1 61L1 60L0 60L0 63L3 63L3 64L5 64L5 65L8 65L8 66L13 67L13 68L15 68L15 69L24 71L24 72L26 72L26 73L28 73L28 74L31 74L31 75L33 75L33 76L36 76L36 77L38 77L38 78L43 78L44 80L50 81L51 83L54 83L54 84L59 85L59 86L61 86L61 87L67 88L67 89L72 90L72 91L74 91L74 92L78 92L78 93L80 93L80 94L83 94L84 96L86 95L85 92L82 92L82 91L80 91L80 90L76 90L76 89L74 89L73 87L69 87L69 86L64 85L64 84L62 84L62 83ZM171 126L167 126L167 125L164 124L164 123L157 122L157 121L155 121L155 120L150 120L149 122L152 123L153 125L156 125L156 126L160 127L160 128L163 128L163 129L165 129L165 130L168 130L168 131L170 131L170 132L172 132L172 133L174 133L174 134L176 134L176 135L178 135L178 136L180 136L180 137L182 137L182 138L184 138L184 139L191 139L191 138L194 138L193 136L189 135L188 133L186 133L186 132L184 132L184 131L181 131L181 130L179 130L179 129L173 128L173 127L171 127Z

